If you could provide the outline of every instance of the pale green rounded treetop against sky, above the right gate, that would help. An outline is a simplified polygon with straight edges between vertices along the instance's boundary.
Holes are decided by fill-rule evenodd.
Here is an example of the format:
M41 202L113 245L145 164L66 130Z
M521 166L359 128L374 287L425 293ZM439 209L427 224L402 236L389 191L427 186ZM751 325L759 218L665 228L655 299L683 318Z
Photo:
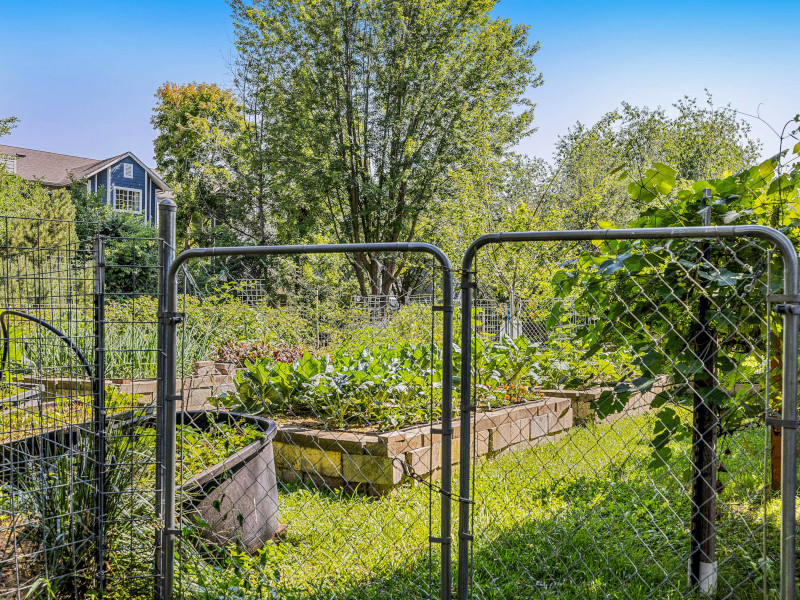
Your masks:
M642 208L627 192L654 163L675 171L676 185L736 173L758 158L759 145L737 113L685 97L668 113L628 103L587 127L577 123L559 138L551 197L565 210L564 228L622 225Z

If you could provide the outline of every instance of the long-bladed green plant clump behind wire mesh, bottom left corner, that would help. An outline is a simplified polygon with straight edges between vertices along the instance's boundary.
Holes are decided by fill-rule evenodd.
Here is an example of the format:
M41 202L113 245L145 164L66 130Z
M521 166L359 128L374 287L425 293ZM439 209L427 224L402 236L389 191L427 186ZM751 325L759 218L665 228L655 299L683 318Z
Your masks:
M113 425L108 429L104 496L106 570L112 587L119 583L114 575L119 558L140 559L135 565L140 572L151 568L152 558L144 555L134 558L129 555L135 553L128 549L134 543L138 547L152 544L153 529L141 526L146 520L155 524L151 501L147 494L131 494L131 490L152 488L154 480L142 483L143 473L130 465L154 464L153 439L152 434L149 437L126 434ZM97 591L97 513L92 508L97 501L97 465L93 440L82 436L69 452L63 449L57 452L55 456L43 455L30 461L2 488L13 503L14 512L24 515L24 522L15 529L16 543L32 544L37 549L23 560L34 563L33 572L47 574L46 578L30 582L31 590L26 597L92 597ZM132 592L126 589L125 595L119 597L146 597Z

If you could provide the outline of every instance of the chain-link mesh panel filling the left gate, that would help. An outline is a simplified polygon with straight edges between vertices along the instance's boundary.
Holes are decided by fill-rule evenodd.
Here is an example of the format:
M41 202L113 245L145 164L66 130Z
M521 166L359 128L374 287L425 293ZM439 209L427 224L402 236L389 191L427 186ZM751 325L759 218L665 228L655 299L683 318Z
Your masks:
M407 258L437 301L388 322L350 318L354 277L235 291L237 269L283 260L311 261L178 273L174 596L439 598L443 271Z

